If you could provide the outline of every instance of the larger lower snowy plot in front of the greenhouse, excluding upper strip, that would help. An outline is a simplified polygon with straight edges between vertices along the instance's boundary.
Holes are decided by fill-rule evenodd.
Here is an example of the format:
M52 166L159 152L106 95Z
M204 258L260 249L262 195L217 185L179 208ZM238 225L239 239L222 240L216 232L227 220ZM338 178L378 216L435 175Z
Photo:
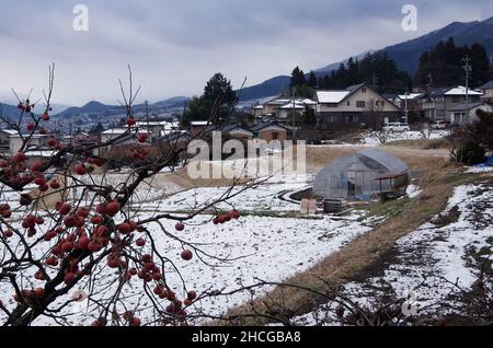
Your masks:
M146 219L150 216L142 214L141 218ZM211 218L197 217L187 224L184 232L180 232L180 239L204 252L197 252L191 262L180 258L183 247L181 242L167 236L157 224L149 227L153 231L157 248L170 259L165 264L164 276L176 293L183 293L183 285L200 293L211 293L233 291L242 286L254 285L256 278L282 281L298 271L310 268L370 230L354 219L333 221L329 218L305 220L244 217L228 224L214 225L210 222ZM163 225L167 231L174 232L172 221L163 221ZM180 274L176 272L172 263ZM91 285L94 300L107 299L114 293L116 285L112 281L115 277L110 276L111 272L114 270L106 267L96 271L96 281ZM33 286L36 286L35 280ZM257 289L255 295L263 294L267 290L271 289ZM9 285L0 283L0 299L4 303L12 303L12 293L13 290ZM122 312L125 312L125 309L138 309L144 322L151 322L154 313L147 310L150 303L142 295L141 280L133 279L125 286L124 293L126 300L122 303ZM209 297L197 302L192 312L220 315L229 308L248 302L249 299L249 292ZM66 311L73 311L73 309L68 308ZM94 316L99 315L96 311L89 312L92 312ZM94 320L94 317L80 317L79 314L70 317L69 322L89 324ZM54 323L45 317L39 318L36 324Z

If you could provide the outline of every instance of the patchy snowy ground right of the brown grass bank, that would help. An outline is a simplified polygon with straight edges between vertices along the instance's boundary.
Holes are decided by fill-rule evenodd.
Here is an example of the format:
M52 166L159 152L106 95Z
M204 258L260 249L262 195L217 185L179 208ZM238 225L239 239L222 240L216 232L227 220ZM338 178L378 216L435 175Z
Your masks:
M460 293L459 288L468 291L478 279L480 266L472 255L492 247L491 183L457 187L442 216L450 213L456 216L450 223L443 225L437 222L439 219L433 220L435 223L425 223L400 239L392 260L383 269L364 282L346 285L343 292L362 308L368 308L376 298L405 299L410 291L415 291L423 313L452 313L451 305L456 308L457 303L451 294ZM326 306L321 306L295 322L336 324L335 316L328 312Z

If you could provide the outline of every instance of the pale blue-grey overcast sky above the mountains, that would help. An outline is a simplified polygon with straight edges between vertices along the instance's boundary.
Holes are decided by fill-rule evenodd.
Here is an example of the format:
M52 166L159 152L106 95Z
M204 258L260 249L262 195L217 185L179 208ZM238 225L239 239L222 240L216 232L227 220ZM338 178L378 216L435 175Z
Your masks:
M78 3L89 32L76 32ZM404 4L419 31L401 28ZM306 71L400 43L454 21L493 15L493 0L0 0L0 97L41 95L56 63L54 102L116 104L131 65L140 100L199 94L215 72L236 88L299 65Z

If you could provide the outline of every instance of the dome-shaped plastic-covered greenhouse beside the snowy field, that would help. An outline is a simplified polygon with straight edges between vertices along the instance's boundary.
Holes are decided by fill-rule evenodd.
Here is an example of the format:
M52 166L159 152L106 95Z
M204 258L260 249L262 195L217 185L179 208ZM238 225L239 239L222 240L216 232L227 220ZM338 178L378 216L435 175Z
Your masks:
M314 179L313 193L323 198L368 199L402 189L408 183L404 162L387 151L366 149L326 165Z

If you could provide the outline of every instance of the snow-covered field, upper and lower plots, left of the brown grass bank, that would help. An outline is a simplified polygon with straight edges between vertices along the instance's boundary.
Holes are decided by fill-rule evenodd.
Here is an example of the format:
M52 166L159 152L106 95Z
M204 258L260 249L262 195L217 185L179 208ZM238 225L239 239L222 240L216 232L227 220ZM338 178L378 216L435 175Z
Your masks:
M117 176L113 178L114 184L118 185ZM274 175L265 183L217 207L225 210L234 207L248 216L222 225L213 224L211 216L197 216L186 222L184 232L176 234L181 241L167 235L167 233L176 233L174 221L162 220L162 227L167 233L157 223L151 223L149 230L152 231L156 247L161 255L169 258L163 267L167 282L179 294L186 292L185 288L210 294L216 291L230 292L242 286L254 285L255 279L282 281L310 268L358 235L370 231L370 228L357 222L359 214L356 213L342 220L332 220L330 217L275 218L270 214L270 212L291 212L293 214L299 211L299 204L290 201L287 197L289 193L307 187L310 181L309 175ZM170 190L173 189L179 190L171 186ZM234 190L238 189L241 187L234 188ZM161 197L160 194L152 192L152 185L148 185L141 190L141 202L134 205L136 214L134 219L151 218L163 211L193 211L219 198L225 190L227 188L203 187ZM150 197L146 195L146 192L149 192ZM13 196L10 198L13 199ZM15 243L15 239L9 243ZM182 243L190 243L197 248L193 260L181 259ZM35 254L39 257L41 253L42 248L36 247ZM112 272L114 270L107 267L99 269L95 272L96 281L81 289L88 292L91 290L94 300L108 299L117 287L114 282L115 277L111 276ZM41 285L33 280L33 283L22 286L34 288ZM267 290L270 289L257 289L256 295ZM138 315L142 322L152 322L156 315L150 301L142 294L140 280L131 280L125 286L124 293L125 300L119 304L121 311L138 308ZM1 282L0 300L12 305L12 294L13 289L10 285ZM245 303L250 298L251 294L245 291L230 295L207 297L196 302L192 312L220 315L232 306ZM54 305L57 304L61 302ZM167 303L162 304L165 306ZM100 314L93 304L90 304L89 311L92 317L82 316L81 309L73 305L64 310L64 313L72 312L76 314L68 317L68 324L72 325L89 324ZM0 313L0 321L2 315ZM55 323L48 317L42 317L35 324L53 325Z

